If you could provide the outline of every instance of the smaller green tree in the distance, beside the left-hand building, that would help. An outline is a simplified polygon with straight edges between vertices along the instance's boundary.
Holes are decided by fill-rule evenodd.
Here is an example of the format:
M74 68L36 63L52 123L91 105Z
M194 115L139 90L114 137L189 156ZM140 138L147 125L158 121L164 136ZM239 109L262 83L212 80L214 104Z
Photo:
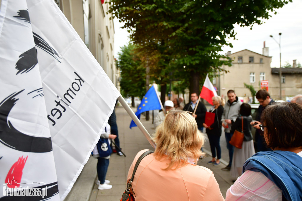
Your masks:
M118 53L117 62L117 68L120 69L121 93L126 97L131 96L133 107L134 97L142 98L146 94L146 69L135 54L135 49L133 44L123 46Z

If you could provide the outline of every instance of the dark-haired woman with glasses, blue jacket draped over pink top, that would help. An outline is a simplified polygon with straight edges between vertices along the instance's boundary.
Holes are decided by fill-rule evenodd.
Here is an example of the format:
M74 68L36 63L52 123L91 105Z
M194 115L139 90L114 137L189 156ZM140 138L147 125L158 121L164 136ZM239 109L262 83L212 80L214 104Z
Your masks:
M302 107L269 105L261 122L273 151L258 152L245 162L226 200L302 200Z

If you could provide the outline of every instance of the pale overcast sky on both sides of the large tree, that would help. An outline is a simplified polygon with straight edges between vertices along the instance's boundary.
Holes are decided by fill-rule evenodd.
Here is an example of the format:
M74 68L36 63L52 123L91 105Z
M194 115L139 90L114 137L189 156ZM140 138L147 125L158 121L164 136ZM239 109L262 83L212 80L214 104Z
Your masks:
M262 54L263 42L268 47L268 56L272 56L271 67L280 66L279 51L279 33L281 33L281 65L286 62L293 64L293 60L297 59L297 63L302 64L302 1L293 0L292 3L284 5L283 8L277 9L277 14L271 13L271 18L263 20L261 25L255 24L250 27L240 27L235 25L237 40L230 40L233 48L225 46L222 54L231 51L238 52L248 49L253 52ZM127 45L129 42L129 33L126 29L119 27L123 24L114 18L114 57L118 58L117 53L120 47ZM272 35L277 42L270 37Z

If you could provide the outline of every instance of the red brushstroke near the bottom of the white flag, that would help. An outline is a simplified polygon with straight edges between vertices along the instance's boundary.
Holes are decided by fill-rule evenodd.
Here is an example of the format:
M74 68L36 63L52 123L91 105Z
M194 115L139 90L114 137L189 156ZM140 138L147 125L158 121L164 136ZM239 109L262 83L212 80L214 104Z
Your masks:
M11 166L11 169L8 171L8 174L5 178L5 183L7 183L8 187L20 187L23 168L27 161L27 157L28 156L26 156L26 158L23 158L23 156L19 157L18 161Z

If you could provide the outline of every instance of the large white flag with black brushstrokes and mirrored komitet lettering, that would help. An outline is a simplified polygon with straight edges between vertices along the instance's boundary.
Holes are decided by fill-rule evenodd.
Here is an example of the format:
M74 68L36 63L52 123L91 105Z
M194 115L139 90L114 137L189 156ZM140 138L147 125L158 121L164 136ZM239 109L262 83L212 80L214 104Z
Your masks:
M0 200L63 200L120 93L53 0L2 0L0 67Z

